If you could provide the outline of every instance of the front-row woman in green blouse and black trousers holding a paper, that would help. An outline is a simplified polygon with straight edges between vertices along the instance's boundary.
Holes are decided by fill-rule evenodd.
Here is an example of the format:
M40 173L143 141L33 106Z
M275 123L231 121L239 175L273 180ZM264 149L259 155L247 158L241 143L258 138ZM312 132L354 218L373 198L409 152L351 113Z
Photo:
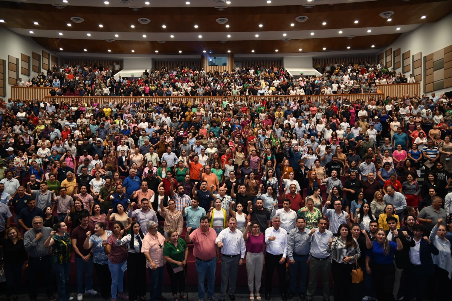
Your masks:
M179 287L179 298L188 300L188 294L185 291L185 277L187 275L187 258L188 248L187 244L176 230L168 230L168 242L163 248L163 255L165 256L166 269L171 281L171 292L174 296L174 301L178 300L177 290Z

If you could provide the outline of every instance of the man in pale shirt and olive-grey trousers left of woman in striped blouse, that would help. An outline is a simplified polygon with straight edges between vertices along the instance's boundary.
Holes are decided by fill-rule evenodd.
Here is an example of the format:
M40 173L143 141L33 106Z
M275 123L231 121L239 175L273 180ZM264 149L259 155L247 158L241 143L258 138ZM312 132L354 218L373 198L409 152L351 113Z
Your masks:
M311 300L317 288L318 273L322 277L323 300L330 300L330 254L326 247L333 239L333 233L326 230L326 218L319 218L319 227L311 229L306 242L311 242L311 259L309 260L309 284L306 291L306 300Z

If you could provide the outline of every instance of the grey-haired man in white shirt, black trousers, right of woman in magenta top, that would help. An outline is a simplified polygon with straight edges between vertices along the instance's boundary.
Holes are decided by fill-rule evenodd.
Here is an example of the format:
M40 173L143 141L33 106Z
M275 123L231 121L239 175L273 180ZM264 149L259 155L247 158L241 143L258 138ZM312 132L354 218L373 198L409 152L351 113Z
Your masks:
M282 301L287 301L286 256L287 231L281 227L279 216L273 216L273 227L265 230L265 299L270 300L273 272L276 268L279 278L279 292Z

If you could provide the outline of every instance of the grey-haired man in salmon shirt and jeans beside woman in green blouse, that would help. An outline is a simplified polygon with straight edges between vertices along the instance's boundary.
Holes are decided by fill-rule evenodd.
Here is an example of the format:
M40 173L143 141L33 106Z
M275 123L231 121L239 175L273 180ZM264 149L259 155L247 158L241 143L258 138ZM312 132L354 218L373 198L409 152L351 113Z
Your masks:
M142 199L141 204L143 206L144 202L145 199ZM148 200L146 200L146 202L148 202ZM154 212L154 210L150 211ZM163 256L163 245L165 244L166 241L165 236L161 235L160 232L157 231L158 228L157 218L155 218L155 221L152 220L143 224L144 225L141 226L140 223L140 227L141 230L146 229L146 235L143 238L141 253L143 253L144 256L146 257L146 268L149 273L149 278L151 278L151 292L150 292L151 296L149 300L154 301L158 299L160 301L166 301L166 299L162 296L162 284L165 270L164 269L165 259ZM187 262L185 261L185 263Z

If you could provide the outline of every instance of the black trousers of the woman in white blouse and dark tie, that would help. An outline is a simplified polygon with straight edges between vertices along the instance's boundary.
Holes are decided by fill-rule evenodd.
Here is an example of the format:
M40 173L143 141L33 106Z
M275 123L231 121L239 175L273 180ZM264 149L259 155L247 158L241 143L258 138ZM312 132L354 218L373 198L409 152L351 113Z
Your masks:
M143 253L130 253L127 257L129 300L146 296L146 257Z

